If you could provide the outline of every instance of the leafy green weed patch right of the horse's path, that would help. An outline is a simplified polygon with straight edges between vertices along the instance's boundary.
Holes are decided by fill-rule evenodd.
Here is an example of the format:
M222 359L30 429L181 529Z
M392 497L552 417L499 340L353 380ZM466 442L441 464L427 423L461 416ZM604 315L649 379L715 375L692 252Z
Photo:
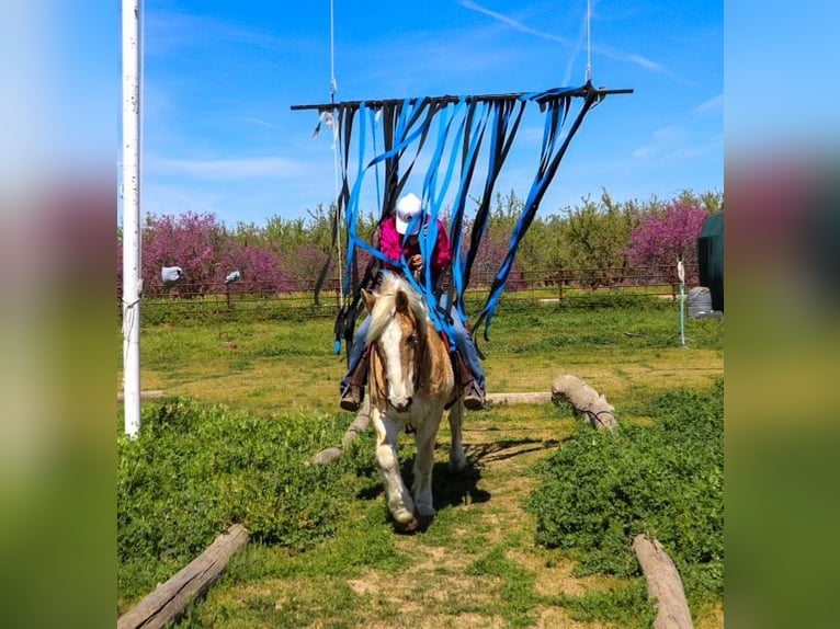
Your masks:
M583 573L639 574L644 533L673 558L693 604L723 593L723 381L636 411L654 426L581 427L544 461L529 500L537 541L568 549Z

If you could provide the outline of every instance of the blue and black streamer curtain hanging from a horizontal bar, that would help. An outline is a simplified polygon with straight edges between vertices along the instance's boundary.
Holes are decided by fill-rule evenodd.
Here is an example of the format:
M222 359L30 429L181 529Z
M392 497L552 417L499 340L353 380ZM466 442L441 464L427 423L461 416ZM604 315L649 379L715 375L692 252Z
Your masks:
M317 108L321 115L328 112L333 124L339 125L337 137L341 141L342 159L337 216L343 216L347 226L347 259L342 287L345 299L336 322L337 343L343 339L349 344L352 340L355 317L360 310L361 290L370 287L376 271L385 263L402 267L405 275L411 278L416 288L424 296L439 330L451 333L452 310L465 323L468 322L464 295L469 286L479 245L486 235L496 186L525 112L537 106L544 116L544 129L536 173L522 214L510 237L507 255L496 273L485 305L474 324L474 333L484 324L484 335L487 339L496 308L513 268L517 250L559 169L572 137L587 113L606 94L629 92L632 90L595 89L587 82L581 88L557 88L524 94L425 96L294 106L293 110ZM580 110L576 116L570 117L576 102L581 103ZM567 128L566 123L569 119L572 122ZM376 146L377 137L382 138L382 150ZM355 155L355 160L351 160L352 155ZM423 277L415 279L408 270L407 261L387 259L379 252L375 242L366 241L359 233L360 203L363 191L370 183L370 172L375 172L377 188L382 186L375 195L375 198L381 199L378 220L382 222L409 181L419 180L415 171L422 169L424 172L421 198L431 215L430 221L421 230L420 238L420 250L425 259L431 254L436 241L436 219L443 211L446 199L450 203L452 282L443 299L440 298L440 287L432 284L431 265L425 265ZM451 191L453 182L457 183ZM420 185L413 187L417 191ZM470 199L475 199L474 211L467 207ZM466 227L469 228L468 235ZM339 233L337 227L333 233ZM357 268L360 251L370 256L361 278ZM319 277L319 288L321 284L322 278ZM451 310L453 305L455 308Z

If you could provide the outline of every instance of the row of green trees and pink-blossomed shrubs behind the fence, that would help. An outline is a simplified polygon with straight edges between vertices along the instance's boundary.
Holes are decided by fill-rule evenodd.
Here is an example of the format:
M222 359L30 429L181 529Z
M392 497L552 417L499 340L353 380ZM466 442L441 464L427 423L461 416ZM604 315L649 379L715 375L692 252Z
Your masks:
M612 286L634 273L663 268L659 278L674 283L676 258L695 273L696 236L706 216L723 210L718 191L682 191L671 199L616 202L604 190L599 198L586 197L576 206L554 214L541 211L520 243L509 286L555 279L564 274L590 288ZM473 267L473 282L490 282L508 252L510 236L524 199L514 191L498 193ZM334 278L338 259L332 235L334 208L318 205L305 217L272 216L264 225L220 224L214 215L149 216L144 228L144 268L147 294L162 293L161 266L183 266L188 285L212 290L225 273L242 267L248 283L242 289L263 293L308 289L332 255L329 273ZM444 222L449 215L444 211ZM359 217L361 238L374 241L378 213ZM464 226L468 235L470 225ZM122 243L117 235L118 244ZM340 239L341 240L341 239ZM341 240L343 242L343 240ZM469 239L465 238L465 242ZM201 256L198 258L198 253ZM256 255L259 253L259 255ZM192 258L195 258L193 260ZM117 277L122 279L122 248L117 252ZM270 277L270 279L269 279ZM259 279L259 281L258 281ZM689 276L691 283L696 276Z

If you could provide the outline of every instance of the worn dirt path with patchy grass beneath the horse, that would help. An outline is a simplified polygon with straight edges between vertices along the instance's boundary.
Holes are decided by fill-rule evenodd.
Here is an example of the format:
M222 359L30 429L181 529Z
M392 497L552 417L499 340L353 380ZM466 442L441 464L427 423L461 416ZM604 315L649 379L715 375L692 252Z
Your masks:
M469 415L464 431L470 468L464 478L449 476L439 445L435 473L444 487L436 488L439 500L459 503L457 523L451 525L449 539L439 539L433 530L404 536L399 550L412 558L408 569L398 573L367 570L350 586L370 599L387 602L399 609L400 626L438 629L441 627L510 627L519 625L503 610L506 576L476 574L476 562L499 551L513 573L532 574L533 591L538 596L580 595L593 588L610 587L604 579L577 579L574 564L557 560L553 553L533 541L534 521L523 505L534 487L530 476L533 465L548 456L560 444L558 436L568 434L570 421L555 426L513 424L498 430L498 422ZM447 435L442 434L442 439ZM438 483L435 483L438 484ZM443 514L441 515L443 518ZM432 524L434 527L435 524ZM449 526L449 523L442 524ZM429 537L434 539L430 540ZM508 581L510 579L508 577ZM408 603L407 603L408 602ZM394 627L382 621L382 611L365 619L366 627ZM538 628L603 628L609 625L577 622L558 606L536 605L526 611ZM378 617L378 620L377 620Z

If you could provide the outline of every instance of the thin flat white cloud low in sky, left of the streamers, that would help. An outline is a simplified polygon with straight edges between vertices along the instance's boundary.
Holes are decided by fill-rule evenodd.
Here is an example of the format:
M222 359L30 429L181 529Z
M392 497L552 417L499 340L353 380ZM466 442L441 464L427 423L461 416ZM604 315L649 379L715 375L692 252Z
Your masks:
M158 176L206 180L292 179L308 172L300 162L281 157L211 160L148 157L144 165Z

